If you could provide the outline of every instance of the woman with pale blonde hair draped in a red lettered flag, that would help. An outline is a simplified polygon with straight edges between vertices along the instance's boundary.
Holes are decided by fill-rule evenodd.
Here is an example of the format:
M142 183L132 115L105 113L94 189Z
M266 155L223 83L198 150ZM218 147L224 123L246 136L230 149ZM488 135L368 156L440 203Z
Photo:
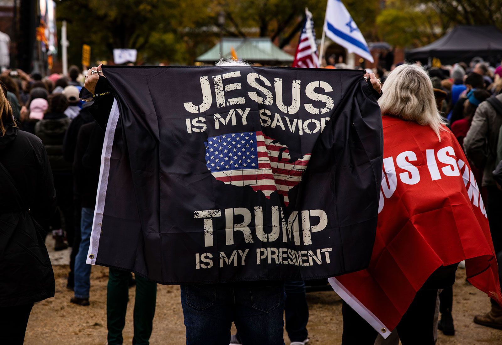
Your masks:
M433 345L437 292L453 285L458 262L467 259L469 281L500 302L486 211L424 69L397 67L382 92L384 174L371 261L331 278L345 292L342 345L373 344L394 328L403 345Z

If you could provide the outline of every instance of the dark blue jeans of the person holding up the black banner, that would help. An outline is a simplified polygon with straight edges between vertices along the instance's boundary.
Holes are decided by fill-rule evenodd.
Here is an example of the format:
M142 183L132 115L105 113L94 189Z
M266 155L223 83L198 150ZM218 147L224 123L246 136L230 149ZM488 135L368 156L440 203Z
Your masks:
M283 345L284 286L181 285L187 345L227 345L232 321L243 345Z

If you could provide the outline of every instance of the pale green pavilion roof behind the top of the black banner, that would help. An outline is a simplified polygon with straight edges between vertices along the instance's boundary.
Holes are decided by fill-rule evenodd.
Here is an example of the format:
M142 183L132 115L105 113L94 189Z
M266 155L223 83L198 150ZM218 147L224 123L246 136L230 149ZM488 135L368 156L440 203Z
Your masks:
M291 64L294 57L283 52L272 43L268 37L223 38L223 58L230 59L230 50L233 47L237 58L249 63L261 63L262 65L283 65ZM213 65L220 59L219 42L204 54L197 57L195 61Z

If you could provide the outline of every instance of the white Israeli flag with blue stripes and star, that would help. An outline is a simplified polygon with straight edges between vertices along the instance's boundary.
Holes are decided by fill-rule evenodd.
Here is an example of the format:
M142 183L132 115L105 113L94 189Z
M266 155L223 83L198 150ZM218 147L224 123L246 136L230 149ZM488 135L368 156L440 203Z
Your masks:
M333 42L346 48L349 53L355 53L373 62L366 40L340 0L328 0L324 32Z

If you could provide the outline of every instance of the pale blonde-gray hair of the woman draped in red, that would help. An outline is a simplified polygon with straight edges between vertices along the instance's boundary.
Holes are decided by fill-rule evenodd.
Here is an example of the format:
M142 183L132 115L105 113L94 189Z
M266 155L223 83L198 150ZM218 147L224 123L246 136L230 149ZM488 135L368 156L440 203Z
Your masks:
M397 67L385 80L382 92L378 103L383 115L428 125L441 141L439 131L444 130L445 121L437 110L431 79L422 67Z

